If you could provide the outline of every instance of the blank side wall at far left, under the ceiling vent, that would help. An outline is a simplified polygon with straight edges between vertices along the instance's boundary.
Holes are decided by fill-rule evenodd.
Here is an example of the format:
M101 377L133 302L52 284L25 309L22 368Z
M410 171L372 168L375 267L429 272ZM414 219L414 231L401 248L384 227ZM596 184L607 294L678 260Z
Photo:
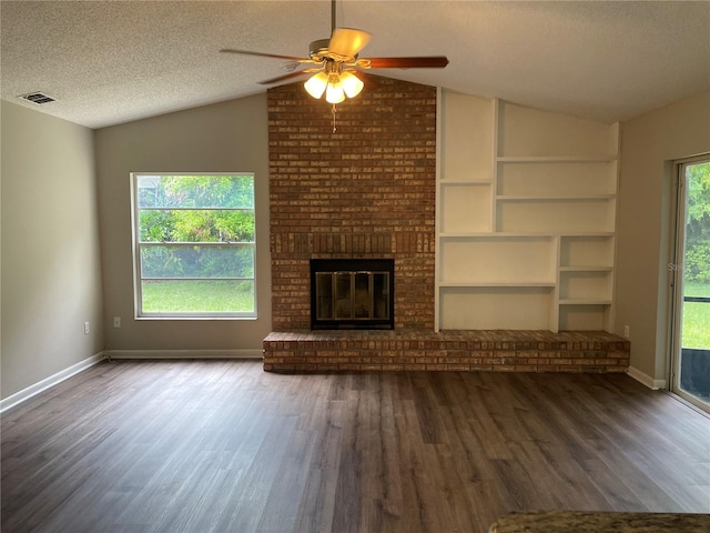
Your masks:
M98 354L104 338L93 132L0 109L4 399Z

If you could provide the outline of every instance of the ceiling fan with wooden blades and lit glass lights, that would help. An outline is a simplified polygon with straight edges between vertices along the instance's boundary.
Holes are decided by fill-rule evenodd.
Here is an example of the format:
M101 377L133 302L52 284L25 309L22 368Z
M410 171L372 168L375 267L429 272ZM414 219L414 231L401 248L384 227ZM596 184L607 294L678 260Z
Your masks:
M281 83L283 81L312 74L304 83L308 94L320 99L325 93L325 100L333 104L341 103L347 98L354 98L363 90L364 83L356 72L369 69L443 69L448 64L445 56L405 57L405 58L361 58L359 52L365 48L371 33L353 28L337 28L335 23L335 0L331 1L331 38L313 41L307 58L281 56L275 53L254 52L251 50L223 49L223 53L239 53L275 58L287 61L287 74L261 81L261 84ZM303 70L301 66L313 64Z

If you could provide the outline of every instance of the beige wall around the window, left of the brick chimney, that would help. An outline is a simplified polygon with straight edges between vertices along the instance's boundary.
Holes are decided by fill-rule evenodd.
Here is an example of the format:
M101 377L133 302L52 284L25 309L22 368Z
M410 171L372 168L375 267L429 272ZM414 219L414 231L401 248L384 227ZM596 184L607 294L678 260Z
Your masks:
M266 94L97 131L104 320L110 350L261 355L271 331ZM131 172L254 172L257 320L134 320ZM112 326L121 316L122 326Z

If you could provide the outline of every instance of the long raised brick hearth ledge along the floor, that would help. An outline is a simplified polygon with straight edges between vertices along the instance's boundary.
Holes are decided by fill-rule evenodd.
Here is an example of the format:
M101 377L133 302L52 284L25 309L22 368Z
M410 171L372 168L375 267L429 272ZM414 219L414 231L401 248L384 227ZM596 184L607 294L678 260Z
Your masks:
M264 339L264 370L626 372L630 350L604 331L290 331Z

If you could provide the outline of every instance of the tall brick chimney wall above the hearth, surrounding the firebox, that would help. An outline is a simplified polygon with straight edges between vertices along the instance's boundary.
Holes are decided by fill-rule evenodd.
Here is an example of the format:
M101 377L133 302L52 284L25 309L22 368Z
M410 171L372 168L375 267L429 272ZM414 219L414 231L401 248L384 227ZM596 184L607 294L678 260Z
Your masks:
M272 321L311 328L311 259L394 259L395 329L434 329L436 89L381 77L337 107L268 90Z

